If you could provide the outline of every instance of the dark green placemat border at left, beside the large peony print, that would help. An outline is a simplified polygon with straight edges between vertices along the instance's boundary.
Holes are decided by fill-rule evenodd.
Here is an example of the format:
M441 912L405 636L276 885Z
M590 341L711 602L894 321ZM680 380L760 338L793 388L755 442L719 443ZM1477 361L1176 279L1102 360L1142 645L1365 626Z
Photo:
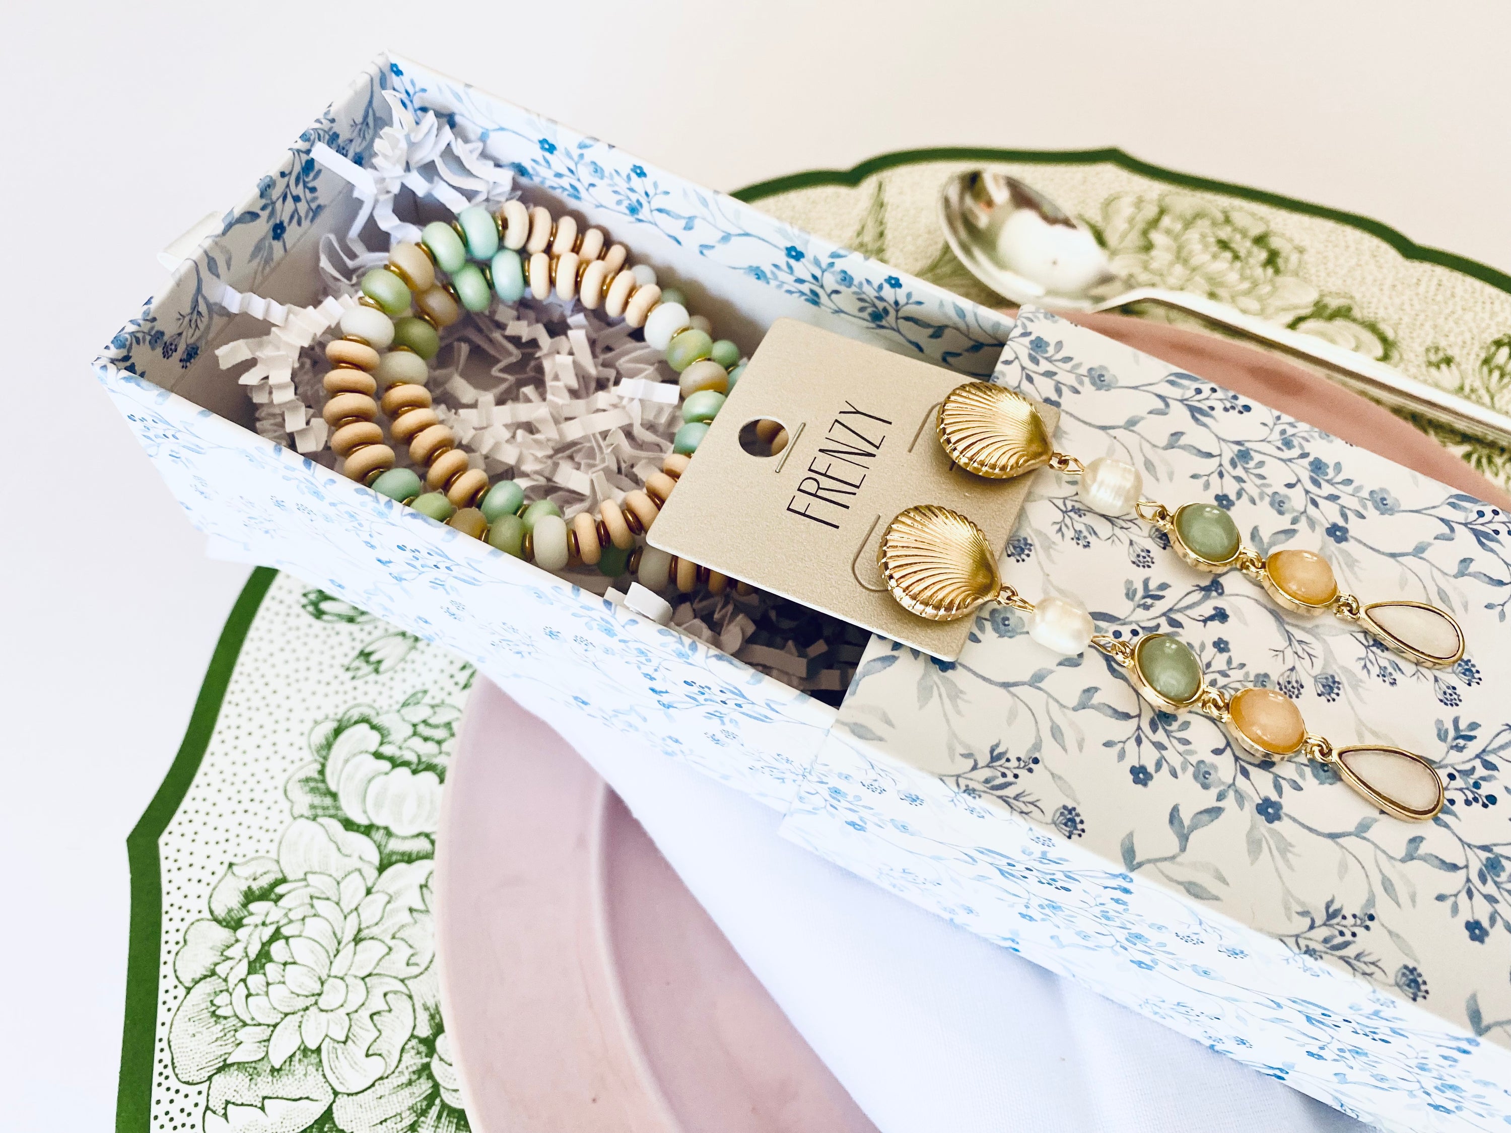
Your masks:
M168 829L193 783L215 734L216 721L231 674L242 656L267 588L278 571L257 566L242 588L215 644L199 696L189 715L183 743L153 801L125 838L131 869L131 929L125 959L125 1020L121 1026L121 1076L115 1094L115 1127L119 1133L147 1133L153 1122L153 1056L157 1045L157 965L163 949L163 876L157 840Z

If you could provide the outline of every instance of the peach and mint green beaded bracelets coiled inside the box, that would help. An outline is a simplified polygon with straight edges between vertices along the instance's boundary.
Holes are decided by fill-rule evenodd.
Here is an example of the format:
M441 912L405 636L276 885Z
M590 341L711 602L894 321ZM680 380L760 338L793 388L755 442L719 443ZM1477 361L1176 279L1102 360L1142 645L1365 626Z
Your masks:
M426 225L419 243L394 245L388 261L363 276L361 299L340 323L343 337L326 347L332 369L325 376L331 397L323 418L334 429L331 449L345 459L351 479L544 570L580 562L609 577L629 571L654 591L675 583L684 594L698 585L719 594L728 583L725 576L638 547L636 536L656 521L709 421L739 381L739 347L715 341L709 322L688 314L680 292L660 289L650 266L627 263L624 245L604 251L604 243L601 230L579 233L571 216L553 219L547 208L527 210L508 201L497 216L473 205L450 225ZM446 282L438 281L437 269L446 272ZM570 524L548 500L526 503L514 480L490 485L431 408L425 385L428 363L440 350L440 331L455 323L462 308L479 313L494 295L512 304L526 293L576 298L588 310L601 305L610 319L644 328L645 341L681 373L683 424L662 471L647 477L644 489L627 492L623 506L603 500L597 517L579 512ZM376 402L379 382L385 391ZM393 467L394 452L376 423L379 408L391 421L393 440L408 444L411 461L425 470L423 483L413 470ZM780 426L769 432L762 440L780 452L784 432Z

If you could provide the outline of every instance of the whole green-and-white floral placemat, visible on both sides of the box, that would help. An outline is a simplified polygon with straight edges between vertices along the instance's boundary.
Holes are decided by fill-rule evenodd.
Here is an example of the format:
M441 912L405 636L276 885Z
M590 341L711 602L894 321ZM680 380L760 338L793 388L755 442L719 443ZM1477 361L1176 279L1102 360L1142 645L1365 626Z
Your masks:
M1117 151L895 154L740 196L990 304L935 216L944 177L984 162L1082 216L1138 282L1210 295L1511 409L1511 278L1361 218ZM1446 440L1511 485L1506 453ZM429 878L473 675L320 591L252 574L128 840L118 1128L467 1128Z

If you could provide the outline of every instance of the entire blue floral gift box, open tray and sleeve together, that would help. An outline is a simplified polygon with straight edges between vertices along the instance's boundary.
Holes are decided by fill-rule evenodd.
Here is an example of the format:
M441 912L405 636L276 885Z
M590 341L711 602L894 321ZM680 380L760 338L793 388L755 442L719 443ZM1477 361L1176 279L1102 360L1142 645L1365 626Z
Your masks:
M1248 665L1304 690L1327 734L1395 734L1405 721L1398 740L1460 776L1455 810L1408 829L1304 766L1239 770L1206 724L1139 712L1095 663L1037 656L1009 612L982 618L955 666L872 642L837 718L260 437L245 387L215 358L267 332L236 296L319 299L320 239L346 231L363 202L313 154L323 145L373 168L394 106L434 110L465 147L511 166L527 199L568 208L675 276L746 352L793 317L967 376L990 375L1000 355L999 379L1059 402L1082 450L1133 450L1151 480L1231 499L1266 545L1287 530L1327 544L1349 582L1428 586L1472 639L1469 662L1435 675L1328 627L1262 618L1219 582L1194 585L1056 485L1040 485L1049 494L1005 559L1015 580L1064 565L1067 588L1117 618L1180 621L1219 671L1236 678ZM1499 621L1508 562L1503 517L1488 508L1049 316L1014 323L399 57L357 77L95 369L221 547L444 644L570 742L639 745L790 808L786 831L820 854L1380 1124L1482 1128L1511 1115L1496 807L1511 730L1490 692L1511 660ZM186 899L210 902L209 884Z

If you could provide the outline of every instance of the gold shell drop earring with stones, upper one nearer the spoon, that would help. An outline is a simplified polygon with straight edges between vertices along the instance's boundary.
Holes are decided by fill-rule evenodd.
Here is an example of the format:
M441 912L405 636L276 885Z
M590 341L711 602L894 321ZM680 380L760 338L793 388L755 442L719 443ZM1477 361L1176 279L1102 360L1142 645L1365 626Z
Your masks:
M1316 551L1260 556L1244 544L1227 509L1186 503L1171 511L1144 499L1144 477L1133 465L1106 456L1082 464L1055 452L1034 403L1003 385L955 387L940 405L938 438L955 464L987 479L1009 479L1046 465L1076 476L1076 494L1094 511L1138 515L1162 532L1191 566L1209 574L1238 570L1290 613L1331 613L1417 665L1445 668L1464 656L1463 628L1437 606L1408 600L1366 604L1339 588L1331 565Z

